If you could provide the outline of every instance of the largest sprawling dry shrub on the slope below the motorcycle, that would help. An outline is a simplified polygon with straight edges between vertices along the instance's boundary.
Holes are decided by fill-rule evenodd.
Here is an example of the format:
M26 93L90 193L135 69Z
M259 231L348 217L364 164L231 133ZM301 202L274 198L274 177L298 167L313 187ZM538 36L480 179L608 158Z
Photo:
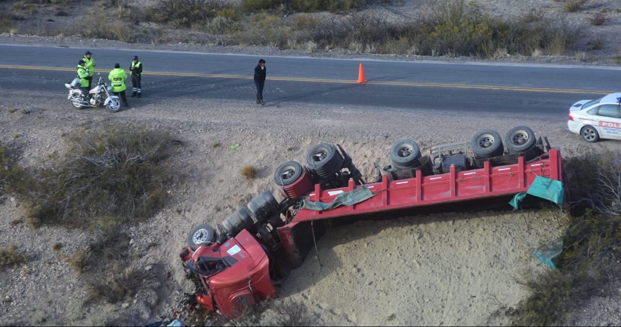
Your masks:
M53 167L12 183L27 217L90 228L143 220L161 208L168 176L162 161L171 154L170 135L110 126L70 142Z

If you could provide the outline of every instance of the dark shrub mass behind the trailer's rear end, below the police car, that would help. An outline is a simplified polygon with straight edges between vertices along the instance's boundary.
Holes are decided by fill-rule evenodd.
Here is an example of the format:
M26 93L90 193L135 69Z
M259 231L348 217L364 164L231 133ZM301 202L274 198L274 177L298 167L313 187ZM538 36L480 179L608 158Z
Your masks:
M516 326L563 325L576 303L594 295L614 295L605 285L620 280L621 156L583 150L566 156L574 215L563 235L560 271L530 274L532 292L516 311ZM604 292L604 293L602 293Z

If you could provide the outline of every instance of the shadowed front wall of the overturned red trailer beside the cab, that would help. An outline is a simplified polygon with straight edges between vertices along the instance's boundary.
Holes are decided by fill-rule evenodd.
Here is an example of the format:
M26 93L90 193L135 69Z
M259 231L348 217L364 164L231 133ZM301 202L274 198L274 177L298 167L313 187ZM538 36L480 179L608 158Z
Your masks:
M304 258L314 247L315 241L324 235L326 223L324 220L295 222L279 227L277 230L283 244L284 254L291 268L296 268L302 265Z

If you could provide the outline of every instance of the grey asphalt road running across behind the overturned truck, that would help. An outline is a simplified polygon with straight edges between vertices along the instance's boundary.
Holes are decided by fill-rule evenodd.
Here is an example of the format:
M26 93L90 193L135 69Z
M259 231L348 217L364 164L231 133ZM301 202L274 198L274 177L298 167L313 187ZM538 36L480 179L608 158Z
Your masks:
M0 91L65 94L64 83L87 49L0 45ZM406 110L565 115L580 99L619 91L621 68L499 65L307 57L247 56L147 50L89 49L97 72L118 62L129 72L138 55L150 97L194 97L254 102L253 69L267 61L266 105L283 103L371 105ZM368 83L355 83L363 63ZM128 81L128 87L131 82ZM0 100L1 101L1 100Z

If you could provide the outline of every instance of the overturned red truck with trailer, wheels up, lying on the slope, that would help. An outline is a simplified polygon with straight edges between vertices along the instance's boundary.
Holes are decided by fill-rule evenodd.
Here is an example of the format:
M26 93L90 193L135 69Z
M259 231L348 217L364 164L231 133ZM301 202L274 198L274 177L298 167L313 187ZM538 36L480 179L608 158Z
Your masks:
M506 146L506 150L505 150ZM374 164L365 182L339 145L313 146L306 167L296 161L274 173L283 200L269 191L217 225L201 224L179 254L203 307L227 318L277 296L274 281L298 267L329 226L367 218L507 206L537 176L565 181L563 160L545 136L528 127L476 133L470 145L434 146L421 155L412 140L391 146L392 164ZM469 151L471 150L471 151Z

